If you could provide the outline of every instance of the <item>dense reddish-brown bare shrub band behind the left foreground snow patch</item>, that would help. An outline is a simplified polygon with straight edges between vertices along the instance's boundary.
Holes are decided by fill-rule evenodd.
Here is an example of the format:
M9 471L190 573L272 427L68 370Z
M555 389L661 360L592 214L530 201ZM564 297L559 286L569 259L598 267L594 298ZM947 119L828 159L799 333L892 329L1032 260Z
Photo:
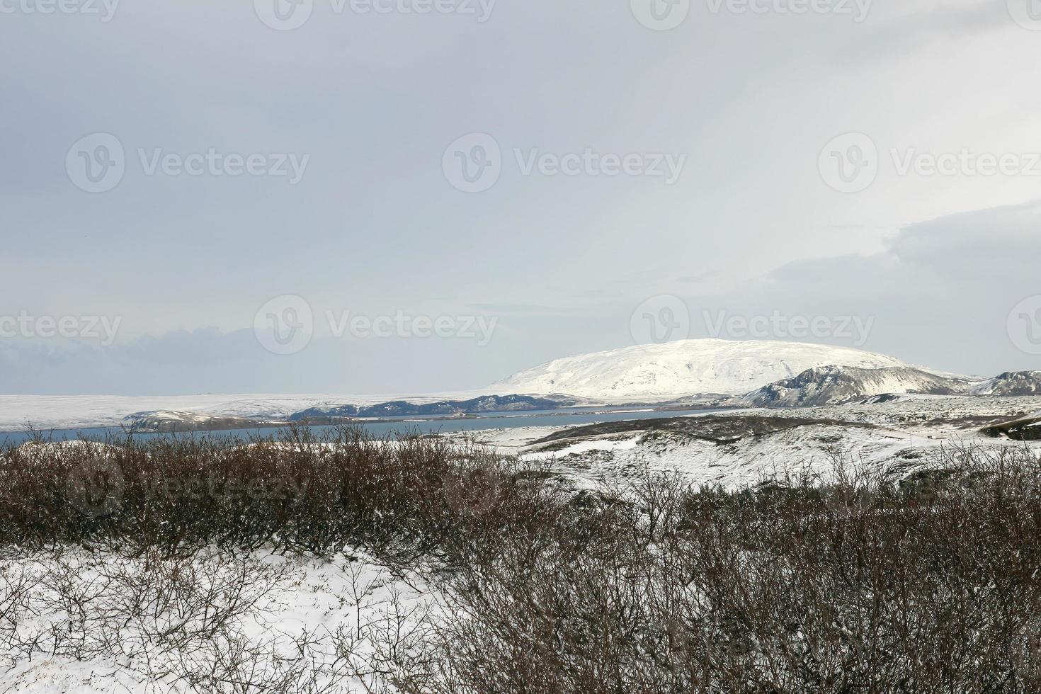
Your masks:
M0 546L191 554L365 546L411 562L516 517L528 468L431 437L298 428L278 438L48 443L0 457ZM512 505L512 506L511 506Z

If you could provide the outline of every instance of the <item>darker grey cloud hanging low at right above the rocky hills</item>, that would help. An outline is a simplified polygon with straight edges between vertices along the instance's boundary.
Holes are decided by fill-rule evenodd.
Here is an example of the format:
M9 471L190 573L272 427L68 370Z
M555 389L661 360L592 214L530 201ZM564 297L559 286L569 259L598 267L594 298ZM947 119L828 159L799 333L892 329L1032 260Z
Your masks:
M691 303L738 314L858 315L866 349L967 374L1041 368L1017 350L1010 311L1041 294L1041 203L904 229L885 253L789 263L744 289Z

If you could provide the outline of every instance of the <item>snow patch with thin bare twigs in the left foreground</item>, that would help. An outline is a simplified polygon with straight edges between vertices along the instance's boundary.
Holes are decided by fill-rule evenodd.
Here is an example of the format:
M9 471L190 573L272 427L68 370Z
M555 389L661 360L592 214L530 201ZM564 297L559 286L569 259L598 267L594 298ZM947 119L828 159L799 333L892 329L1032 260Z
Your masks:
M187 682L305 692L333 678L334 691L363 692L437 611L421 580L364 556L147 561L72 549L0 561L0 597L23 582L18 605L0 606L4 694L185 692Z

